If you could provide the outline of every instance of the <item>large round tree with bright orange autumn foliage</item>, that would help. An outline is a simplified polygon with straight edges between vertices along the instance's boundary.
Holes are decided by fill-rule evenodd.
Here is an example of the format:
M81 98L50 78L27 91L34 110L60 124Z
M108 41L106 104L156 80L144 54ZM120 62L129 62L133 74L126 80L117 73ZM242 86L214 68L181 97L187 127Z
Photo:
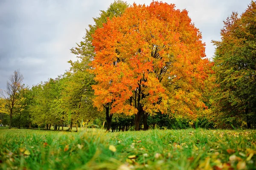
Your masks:
M135 130L142 116L148 128L148 114L195 117L207 108L201 92L210 64L186 10L162 2L134 3L95 31L93 45L94 105L135 114Z

